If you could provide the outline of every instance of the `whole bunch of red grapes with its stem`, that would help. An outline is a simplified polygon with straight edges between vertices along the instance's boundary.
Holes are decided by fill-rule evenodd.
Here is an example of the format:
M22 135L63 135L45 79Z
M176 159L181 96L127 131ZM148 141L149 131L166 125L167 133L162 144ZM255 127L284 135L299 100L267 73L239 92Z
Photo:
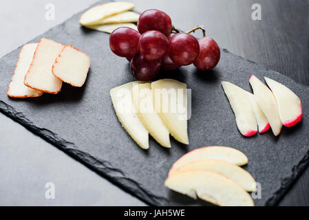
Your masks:
M199 41L189 34L198 29L204 34ZM192 63L198 69L209 70L220 60L217 43L205 36L202 26L179 33L169 15L156 9L140 15L138 31L125 27L114 30L109 46L114 54L127 58L131 73L138 80L153 80L160 69L175 70Z

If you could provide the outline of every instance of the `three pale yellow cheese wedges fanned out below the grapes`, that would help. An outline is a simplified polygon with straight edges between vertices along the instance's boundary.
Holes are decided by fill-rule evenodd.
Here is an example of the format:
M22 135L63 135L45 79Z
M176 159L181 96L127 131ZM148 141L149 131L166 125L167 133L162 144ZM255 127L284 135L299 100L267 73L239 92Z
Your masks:
M184 83L136 81L111 89L110 94L122 126L141 148L149 148L149 133L167 148L171 147L170 133L175 140L189 144Z

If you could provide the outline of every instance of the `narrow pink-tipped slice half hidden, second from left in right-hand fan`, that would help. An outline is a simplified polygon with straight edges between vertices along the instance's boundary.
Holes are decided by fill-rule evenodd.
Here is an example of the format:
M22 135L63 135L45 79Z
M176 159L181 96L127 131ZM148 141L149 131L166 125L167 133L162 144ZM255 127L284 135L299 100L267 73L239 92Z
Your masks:
M255 115L255 119L257 120L257 125L259 126L259 133L265 133L270 129L270 124L261 107L259 107L259 104L257 104L257 101L255 100L253 94L249 94L249 99L251 102L253 113Z

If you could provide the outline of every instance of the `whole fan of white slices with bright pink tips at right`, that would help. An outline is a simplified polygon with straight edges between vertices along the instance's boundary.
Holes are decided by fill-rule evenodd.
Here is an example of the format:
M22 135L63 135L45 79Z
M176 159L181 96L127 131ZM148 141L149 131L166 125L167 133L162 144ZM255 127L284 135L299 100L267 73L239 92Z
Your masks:
M294 126L302 119L301 100L288 87L265 77L269 88L252 75L249 83L254 95L232 83L222 82L222 87L235 114L237 127L249 137L272 129L275 136L284 126Z

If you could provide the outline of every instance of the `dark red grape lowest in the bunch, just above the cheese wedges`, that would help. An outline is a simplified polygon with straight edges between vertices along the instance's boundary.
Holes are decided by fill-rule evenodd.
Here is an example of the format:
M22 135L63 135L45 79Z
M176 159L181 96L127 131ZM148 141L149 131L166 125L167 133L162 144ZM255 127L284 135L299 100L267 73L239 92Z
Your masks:
M136 54L130 64L131 72L138 80L153 80L161 67L161 61L147 61L142 54Z

